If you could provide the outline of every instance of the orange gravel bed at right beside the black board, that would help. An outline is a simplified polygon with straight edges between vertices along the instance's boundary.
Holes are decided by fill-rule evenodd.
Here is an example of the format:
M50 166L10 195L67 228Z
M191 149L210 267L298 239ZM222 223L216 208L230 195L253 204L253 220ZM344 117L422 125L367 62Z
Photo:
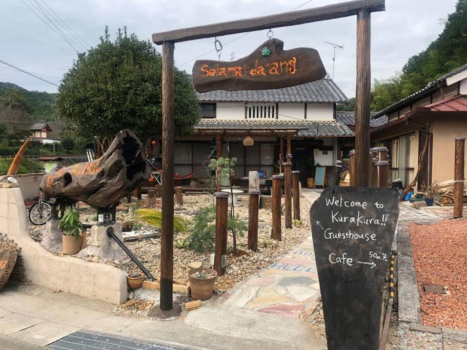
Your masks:
M423 324L467 329L467 219L411 223L409 231ZM451 296L423 292L422 284L446 285Z

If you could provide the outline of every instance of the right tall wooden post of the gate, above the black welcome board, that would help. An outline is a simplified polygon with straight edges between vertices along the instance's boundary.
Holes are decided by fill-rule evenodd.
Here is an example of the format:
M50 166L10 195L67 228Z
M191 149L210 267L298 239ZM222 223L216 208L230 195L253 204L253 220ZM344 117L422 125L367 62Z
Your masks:
M367 187L370 174L370 30L371 13L357 14L357 85L355 92L355 182L351 186Z

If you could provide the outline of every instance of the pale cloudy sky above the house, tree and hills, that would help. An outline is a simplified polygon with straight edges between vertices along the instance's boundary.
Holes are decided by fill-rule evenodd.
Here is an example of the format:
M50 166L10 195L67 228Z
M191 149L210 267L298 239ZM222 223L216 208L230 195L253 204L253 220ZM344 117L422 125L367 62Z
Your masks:
M0 59L59 85L63 74L77 57L96 46L105 26L112 38L117 29L127 26L139 39L151 34L241 18L319 7L338 0L3 0L0 2ZM443 30L443 19L454 12L456 0L386 0L386 11L372 13L371 74L387 79L400 71L407 59L425 49ZM34 10L34 14L29 8ZM59 19L53 24L38 11L39 5L53 11ZM47 8L46 5L49 7ZM43 10L44 11L44 10ZM47 12L46 12L47 14ZM53 13L49 14L50 18ZM47 26L47 23L49 26ZM63 20L63 22L59 22ZM64 28L68 29L66 32ZM69 37L68 42L55 33L55 26ZM68 27L67 27L68 26ZM72 36L72 34L75 36ZM324 67L332 76L331 45L336 51L334 80L350 98L355 96L356 17L273 29L284 49L317 49ZM226 44L242 34L218 37ZM83 41L81 41L81 39ZM222 60L241 58L267 40L267 30L249 33L224 45ZM161 47L158 47L159 51ZM175 65L191 73L194 58L217 59L214 38L175 44ZM188 63L187 63L188 62ZM57 87L0 63L0 81L8 81L28 90L57 92Z

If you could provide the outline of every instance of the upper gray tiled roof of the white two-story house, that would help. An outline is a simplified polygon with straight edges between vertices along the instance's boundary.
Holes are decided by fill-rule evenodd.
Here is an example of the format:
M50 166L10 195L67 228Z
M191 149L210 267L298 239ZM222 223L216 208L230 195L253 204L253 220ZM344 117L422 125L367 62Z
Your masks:
M269 90L216 90L196 95L200 101L209 102L310 102L348 103L349 99L332 79L320 79L311 83L282 89Z

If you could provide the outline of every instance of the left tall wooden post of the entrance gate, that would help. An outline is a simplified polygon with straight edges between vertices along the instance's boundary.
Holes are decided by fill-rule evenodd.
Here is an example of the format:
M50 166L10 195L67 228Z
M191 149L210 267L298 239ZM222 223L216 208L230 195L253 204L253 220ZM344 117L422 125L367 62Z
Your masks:
M173 175L174 175L174 43L162 47L162 229L160 235L160 310L172 309Z

